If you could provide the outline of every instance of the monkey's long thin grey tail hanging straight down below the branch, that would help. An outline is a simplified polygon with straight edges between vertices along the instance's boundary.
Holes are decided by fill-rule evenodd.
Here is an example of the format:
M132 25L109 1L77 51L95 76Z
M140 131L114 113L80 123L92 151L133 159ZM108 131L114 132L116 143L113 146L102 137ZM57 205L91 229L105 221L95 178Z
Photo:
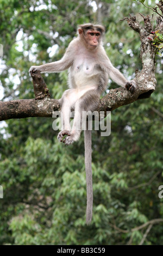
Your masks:
M92 136L91 131L84 131L85 146L85 172L86 172L86 223L89 225L92 220L93 210L93 188L92 188Z

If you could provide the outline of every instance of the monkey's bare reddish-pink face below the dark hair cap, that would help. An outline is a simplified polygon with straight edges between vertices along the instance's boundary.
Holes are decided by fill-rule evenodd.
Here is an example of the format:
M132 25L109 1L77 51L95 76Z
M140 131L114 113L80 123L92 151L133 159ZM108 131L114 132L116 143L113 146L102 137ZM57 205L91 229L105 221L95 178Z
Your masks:
M79 31L79 34L83 34L87 48L95 49L98 46L99 41L101 39L101 33L99 31L95 31L92 29L86 31L86 33L84 33L83 31Z

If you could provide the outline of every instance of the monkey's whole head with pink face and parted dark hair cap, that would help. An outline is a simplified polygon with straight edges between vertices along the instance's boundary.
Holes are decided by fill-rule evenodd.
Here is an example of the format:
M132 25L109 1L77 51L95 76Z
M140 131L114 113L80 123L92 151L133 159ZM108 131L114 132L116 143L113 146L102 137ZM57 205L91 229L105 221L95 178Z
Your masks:
M78 27L80 38L84 39L86 47L90 49L96 49L98 47L104 32L105 28L103 26L93 25L92 23L85 23Z

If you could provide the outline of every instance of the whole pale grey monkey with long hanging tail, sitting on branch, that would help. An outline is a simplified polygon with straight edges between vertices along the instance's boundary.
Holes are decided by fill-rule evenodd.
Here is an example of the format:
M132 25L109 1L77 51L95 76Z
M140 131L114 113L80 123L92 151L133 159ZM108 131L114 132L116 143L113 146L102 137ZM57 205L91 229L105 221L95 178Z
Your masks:
M109 77L119 86L133 93L136 88L134 80L128 81L110 62L103 47L105 28L102 25L85 23L79 25L77 37L67 47L64 56L55 62L40 66L31 66L29 72L61 72L68 69L68 86L60 101L62 129L58 140L70 145L80 137L80 124L83 111L95 111L99 99L106 89ZM72 128L70 113L74 109ZM84 131L85 170L86 170L86 223L92 220L93 190L91 168L91 131Z

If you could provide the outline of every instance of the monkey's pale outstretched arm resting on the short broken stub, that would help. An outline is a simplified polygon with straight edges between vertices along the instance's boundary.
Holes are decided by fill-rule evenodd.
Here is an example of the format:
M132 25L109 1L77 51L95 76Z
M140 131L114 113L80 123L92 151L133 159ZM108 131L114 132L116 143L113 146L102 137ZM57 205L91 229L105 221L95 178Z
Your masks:
M74 57L73 49L72 49L72 46L69 45L64 56L60 60L58 60L57 62L51 62L51 63L43 64L40 66L31 66L29 69L29 72L30 71L35 72L35 70L40 70L41 73L45 73L45 72L53 73L53 72L64 71L70 68L70 66L72 65L73 57Z

